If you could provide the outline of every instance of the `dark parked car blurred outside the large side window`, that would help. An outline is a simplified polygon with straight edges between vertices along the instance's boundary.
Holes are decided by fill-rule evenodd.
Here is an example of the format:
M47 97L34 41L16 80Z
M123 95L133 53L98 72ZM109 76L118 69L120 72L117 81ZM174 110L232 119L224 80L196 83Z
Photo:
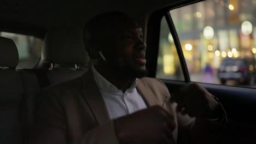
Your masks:
M253 86L255 82L255 58L226 58L218 69L218 78L225 85L227 80Z

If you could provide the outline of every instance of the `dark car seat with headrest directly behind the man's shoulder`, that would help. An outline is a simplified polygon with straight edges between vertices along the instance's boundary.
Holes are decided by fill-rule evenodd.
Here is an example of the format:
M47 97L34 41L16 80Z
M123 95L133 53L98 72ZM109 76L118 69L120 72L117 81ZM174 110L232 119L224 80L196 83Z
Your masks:
M89 58L83 45L83 32L54 30L46 34L39 62L40 69L21 69L24 83L23 125L25 140L33 130L36 99L42 88L75 79L86 71Z

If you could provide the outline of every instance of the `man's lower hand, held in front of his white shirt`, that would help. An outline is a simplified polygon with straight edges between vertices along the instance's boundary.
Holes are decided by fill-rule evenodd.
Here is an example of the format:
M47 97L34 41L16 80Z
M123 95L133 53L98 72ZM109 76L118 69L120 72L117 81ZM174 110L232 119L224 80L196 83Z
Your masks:
M174 116L160 106L149 107L114 120L121 143L174 144Z

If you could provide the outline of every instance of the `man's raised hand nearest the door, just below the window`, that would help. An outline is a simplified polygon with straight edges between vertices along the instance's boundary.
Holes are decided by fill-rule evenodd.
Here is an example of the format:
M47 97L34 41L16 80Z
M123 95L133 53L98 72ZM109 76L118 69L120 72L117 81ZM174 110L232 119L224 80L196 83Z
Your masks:
M177 110L191 117L207 117L218 107L218 102L203 87L191 83L174 94Z

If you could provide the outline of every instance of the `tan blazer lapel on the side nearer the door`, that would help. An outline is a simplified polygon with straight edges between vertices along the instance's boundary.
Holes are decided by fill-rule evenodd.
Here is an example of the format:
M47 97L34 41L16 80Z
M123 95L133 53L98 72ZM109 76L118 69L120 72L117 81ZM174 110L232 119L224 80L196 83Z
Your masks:
M146 85L146 83L144 83L142 80L138 79L136 88L137 88L139 94L141 94L142 98L144 99L144 101L148 107L158 105L158 101L156 100L153 92Z

